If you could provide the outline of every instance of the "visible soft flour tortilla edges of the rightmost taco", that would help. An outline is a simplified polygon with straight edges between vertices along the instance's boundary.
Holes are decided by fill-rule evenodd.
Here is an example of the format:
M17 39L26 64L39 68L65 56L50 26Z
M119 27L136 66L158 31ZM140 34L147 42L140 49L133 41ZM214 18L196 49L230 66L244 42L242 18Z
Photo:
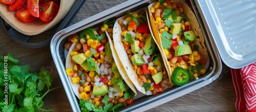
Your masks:
M182 2L182 1L178 1L178 0L174 0L174 3L181 3L182 6L183 6L183 10L184 10L184 14L186 15L186 17L189 19L189 22L190 22L190 27L191 27L191 30L193 30L193 32L198 36L194 41L195 41L195 44L197 46L199 46L199 49L198 51L203 55L203 57L205 59L208 58L208 52L207 52L207 49L205 47L205 44L204 44L204 36L203 36L203 33L202 33L202 30L200 28L200 25L197 21L197 18L195 16L195 14L193 13L193 11L189 8L189 6L187 6L187 4L185 2ZM162 46L162 42L161 42L161 37L160 37L160 33L159 33L159 30L157 28L157 25L155 23L155 20L153 18L153 15L152 13L150 12L150 8L151 7L154 7L154 5L156 4L155 3L152 3L148 6L148 13L149 13L149 17L150 17L150 21L148 23L150 23L151 25L151 33L154 34L154 38L156 40L156 42L158 43L158 45L160 46L160 51L161 51L161 55L162 57L164 57L163 61L164 63L167 65L167 72L169 74L169 77L170 75L172 75L172 70L170 70L170 65L168 64L168 60L167 60L167 57L166 55L164 54L164 49L163 49L163 46ZM208 60L208 59L207 59Z

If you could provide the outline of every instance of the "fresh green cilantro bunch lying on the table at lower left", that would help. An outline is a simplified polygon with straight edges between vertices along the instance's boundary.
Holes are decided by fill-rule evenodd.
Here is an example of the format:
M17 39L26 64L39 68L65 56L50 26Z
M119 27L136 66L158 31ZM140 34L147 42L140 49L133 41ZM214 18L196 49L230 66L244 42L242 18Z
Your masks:
M31 73L30 65L18 65L11 53L7 56L0 56L0 111L52 111L43 109L44 97L59 88L50 89L52 76L43 68Z

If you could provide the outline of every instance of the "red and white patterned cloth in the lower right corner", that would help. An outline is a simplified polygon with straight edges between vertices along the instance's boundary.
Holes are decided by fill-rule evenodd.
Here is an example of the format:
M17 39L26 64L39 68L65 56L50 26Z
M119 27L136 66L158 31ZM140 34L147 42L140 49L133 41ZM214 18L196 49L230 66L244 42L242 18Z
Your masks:
M241 69L230 70L237 97L237 111L256 111L256 62Z

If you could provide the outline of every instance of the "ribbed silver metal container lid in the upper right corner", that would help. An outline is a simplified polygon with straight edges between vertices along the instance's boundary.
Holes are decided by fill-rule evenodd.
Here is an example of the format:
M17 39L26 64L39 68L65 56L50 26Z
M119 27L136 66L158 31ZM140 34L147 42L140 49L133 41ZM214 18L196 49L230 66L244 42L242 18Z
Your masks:
M239 69L256 61L256 1L195 0L222 61Z

